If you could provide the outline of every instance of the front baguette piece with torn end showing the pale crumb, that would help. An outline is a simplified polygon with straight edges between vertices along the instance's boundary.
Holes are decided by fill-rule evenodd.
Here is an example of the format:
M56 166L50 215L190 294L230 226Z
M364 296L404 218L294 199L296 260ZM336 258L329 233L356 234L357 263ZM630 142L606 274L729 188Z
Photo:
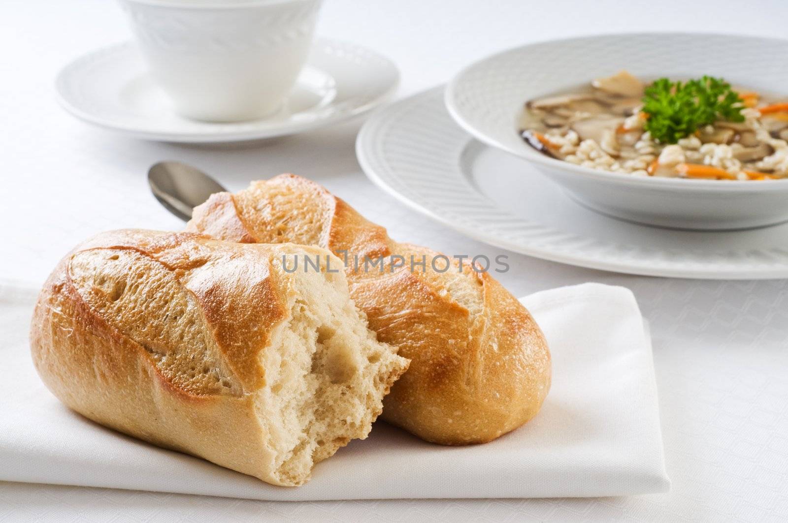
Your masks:
M35 368L102 425L271 484L303 484L314 463L366 438L407 369L366 328L343 272L282 268L303 256L342 266L288 243L99 235L63 258L39 295Z

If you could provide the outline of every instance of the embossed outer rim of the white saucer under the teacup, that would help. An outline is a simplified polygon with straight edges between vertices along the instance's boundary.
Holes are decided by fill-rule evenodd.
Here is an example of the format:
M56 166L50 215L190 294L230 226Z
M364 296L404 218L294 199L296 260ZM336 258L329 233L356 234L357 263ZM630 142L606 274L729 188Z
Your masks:
M272 122L266 119L230 123L189 121L189 124L199 125L200 129L173 132L151 130L150 128L145 128L145 126L129 125L128 122L124 123L117 121L117 119L113 119L112 117L102 116L101 114L91 112L89 109L84 109L78 102L74 102L74 98L69 94L70 87L67 87L67 83L72 81L75 75L81 74L80 69L91 67L93 62L106 60L106 57L111 57L113 54L129 52L134 52L133 43L117 43L83 54L65 65L55 77L55 93L60 106L74 117L88 124L97 125L100 128L105 128L113 132L121 132L136 138L173 143L229 143L293 135L299 132L321 128L327 124L348 120L351 117L366 113L370 111L370 109L379 106L382 102L385 102L392 96L394 91L396 91L396 87L400 82L399 69L397 69L394 62L382 54L378 54L374 50L354 43L336 39L318 38L315 39L312 44L312 53L332 54L334 58L340 59L348 67L354 69L362 69L374 65L377 69L385 71L390 77L390 81L385 83L385 86L381 84L380 88L370 90L370 93L367 93L365 96L356 96L354 98L340 99L338 101L332 100L328 106L320 106L324 116L315 118L314 120L303 121L303 118L290 117L276 125L272 125ZM310 61L307 61L305 67L309 66ZM331 71L324 72L328 73L329 76L336 80L337 91L339 91L342 88L343 79L337 78ZM378 77L380 76L381 75L378 75ZM333 109L333 111L325 110L329 108ZM306 113L308 114L310 111ZM298 117L303 114L305 113L295 113L292 116Z

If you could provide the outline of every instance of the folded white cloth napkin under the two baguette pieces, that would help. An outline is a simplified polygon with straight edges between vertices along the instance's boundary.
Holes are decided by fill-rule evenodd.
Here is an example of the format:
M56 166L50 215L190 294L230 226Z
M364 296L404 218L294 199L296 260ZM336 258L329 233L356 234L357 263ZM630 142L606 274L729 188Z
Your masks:
M33 369L36 291L0 284L0 480L269 500L532 498L667 491L651 346L632 293L584 284L527 296L552 352L552 390L530 423L441 447L377 422L298 488L165 451L62 406Z

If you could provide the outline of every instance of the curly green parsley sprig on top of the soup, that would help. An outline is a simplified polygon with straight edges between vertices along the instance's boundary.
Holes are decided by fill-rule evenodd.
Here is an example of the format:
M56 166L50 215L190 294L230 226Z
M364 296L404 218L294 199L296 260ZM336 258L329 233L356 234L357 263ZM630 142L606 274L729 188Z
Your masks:
M642 111L645 130L660 143L676 143L717 120L744 121L744 102L730 83L704 76L686 83L660 78L646 87Z

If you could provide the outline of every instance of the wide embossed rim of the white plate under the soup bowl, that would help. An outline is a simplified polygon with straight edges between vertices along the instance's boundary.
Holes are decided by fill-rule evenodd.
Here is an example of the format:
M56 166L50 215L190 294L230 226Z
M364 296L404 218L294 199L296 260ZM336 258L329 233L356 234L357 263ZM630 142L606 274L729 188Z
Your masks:
M470 143L488 146L475 142L452 120L444 106L443 91L444 86L436 87L379 109L356 139L356 155L366 176L411 209L480 242L589 269L711 280L788 277L788 249L779 245L725 253L677 253L631 246L623 249L615 243L515 217L466 179L460 155ZM405 125L409 126L407 132L403 132ZM418 172L413 159L418 158L415 163L425 161L427 157L418 153L423 147L429 148L429 165ZM403 169L403 162L407 169ZM422 182L419 187L412 187L407 180L415 177ZM459 184L447 185L446 180ZM447 203L455 209L447 210Z

